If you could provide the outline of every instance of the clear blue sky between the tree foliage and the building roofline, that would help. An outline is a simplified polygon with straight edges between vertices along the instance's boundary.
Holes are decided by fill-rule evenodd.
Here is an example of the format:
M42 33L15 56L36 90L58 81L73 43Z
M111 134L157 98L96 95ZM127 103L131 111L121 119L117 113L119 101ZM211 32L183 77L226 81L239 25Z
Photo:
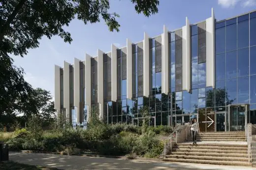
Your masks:
M211 17L214 8L217 20L233 17L256 9L256 0L160 0L159 13L149 18L137 14L130 0L110 0L110 12L120 15L119 32L110 32L104 21L84 25L73 20L65 28L72 36L72 43L64 43L59 37L51 40L43 37L37 49L29 49L24 58L14 56L14 64L24 69L25 79L33 88L41 87L54 97L54 65L63 67L64 60L72 64L74 57L84 60L85 53L96 56L97 49L111 50L111 43L124 47L128 38L133 43L143 40L144 31L149 36L160 35L165 24L169 31Z

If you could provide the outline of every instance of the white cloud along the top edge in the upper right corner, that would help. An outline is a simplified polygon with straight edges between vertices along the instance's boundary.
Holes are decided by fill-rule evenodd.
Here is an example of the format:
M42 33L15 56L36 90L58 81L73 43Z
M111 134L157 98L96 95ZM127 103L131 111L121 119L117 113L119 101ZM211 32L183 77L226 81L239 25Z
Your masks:
M218 4L224 8L234 7L240 3L242 7L255 6L256 0L218 0Z

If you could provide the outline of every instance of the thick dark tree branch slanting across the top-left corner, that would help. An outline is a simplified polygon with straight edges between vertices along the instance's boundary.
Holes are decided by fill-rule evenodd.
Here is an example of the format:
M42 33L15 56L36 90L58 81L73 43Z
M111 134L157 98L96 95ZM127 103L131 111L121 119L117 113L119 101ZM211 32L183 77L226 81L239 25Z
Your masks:
M22 6L26 3L27 0L21 0L17 6L12 11L11 15L6 20L5 24L1 27L0 25L0 41L2 41L4 33L7 31L8 26L11 24L11 22L14 20L18 12L21 10Z

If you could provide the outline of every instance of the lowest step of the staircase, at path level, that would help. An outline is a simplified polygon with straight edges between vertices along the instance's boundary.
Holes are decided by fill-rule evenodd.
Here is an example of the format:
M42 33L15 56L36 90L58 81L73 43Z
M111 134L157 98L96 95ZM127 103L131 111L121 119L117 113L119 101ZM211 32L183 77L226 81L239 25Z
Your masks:
M248 163L248 161L212 161L212 160L179 159L179 158L164 158L163 160L170 161L170 162L187 162L187 163L199 163L199 164L252 166L252 164Z

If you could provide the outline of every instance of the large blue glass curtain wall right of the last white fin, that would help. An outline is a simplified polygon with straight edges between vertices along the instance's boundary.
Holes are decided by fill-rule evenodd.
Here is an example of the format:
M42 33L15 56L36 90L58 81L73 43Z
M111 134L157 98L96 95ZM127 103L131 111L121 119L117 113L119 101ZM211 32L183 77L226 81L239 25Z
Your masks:
M251 119L248 120L254 122L256 12L218 22L215 27L216 110L229 104L250 104Z

